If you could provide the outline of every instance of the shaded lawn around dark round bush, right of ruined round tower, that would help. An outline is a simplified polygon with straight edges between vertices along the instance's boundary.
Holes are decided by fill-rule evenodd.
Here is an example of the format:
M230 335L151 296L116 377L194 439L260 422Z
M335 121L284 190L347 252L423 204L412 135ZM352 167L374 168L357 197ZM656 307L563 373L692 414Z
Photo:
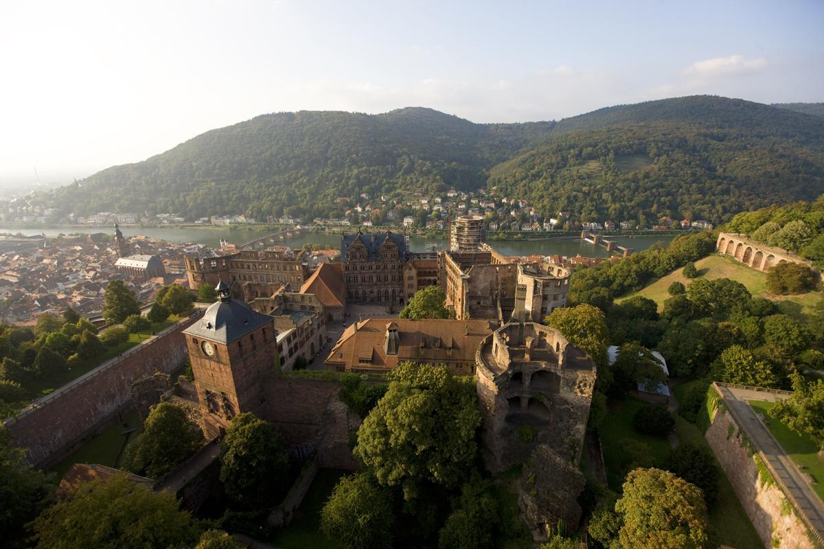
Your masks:
M601 429L601 444L604 450L604 465L606 466L606 482L611 490L620 492L624 483L622 458L624 444L621 440L634 439L649 445L650 452L655 459L655 465L662 467L670 453L670 444L666 438L642 435L632 428L632 416L644 405L636 398L625 398L621 401L609 403L609 412L604 418Z

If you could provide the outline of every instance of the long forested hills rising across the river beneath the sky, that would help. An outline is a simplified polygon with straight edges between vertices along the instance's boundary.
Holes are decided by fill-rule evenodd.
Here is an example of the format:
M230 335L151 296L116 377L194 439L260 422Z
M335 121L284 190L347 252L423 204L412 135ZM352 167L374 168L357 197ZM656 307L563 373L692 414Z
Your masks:
M558 123L476 124L432 109L265 114L68 187L63 212L343 216L338 198L491 188L601 221L744 209L824 193L824 119L692 96ZM377 204L373 204L377 205ZM586 221L586 220L584 220Z

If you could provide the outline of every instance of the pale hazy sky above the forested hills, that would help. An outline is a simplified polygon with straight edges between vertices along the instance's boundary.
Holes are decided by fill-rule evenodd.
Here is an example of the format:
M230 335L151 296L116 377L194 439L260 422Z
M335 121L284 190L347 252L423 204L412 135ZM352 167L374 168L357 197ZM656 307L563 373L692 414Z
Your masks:
M518 122L691 94L824 101L824 2L0 0L0 184L275 111Z

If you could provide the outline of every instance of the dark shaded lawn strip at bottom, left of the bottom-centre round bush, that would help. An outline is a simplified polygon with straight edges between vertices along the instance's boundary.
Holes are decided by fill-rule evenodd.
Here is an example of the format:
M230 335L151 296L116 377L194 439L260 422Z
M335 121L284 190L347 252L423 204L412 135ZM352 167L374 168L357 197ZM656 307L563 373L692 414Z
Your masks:
M297 508L292 523L286 528L280 528L269 542L279 549L309 549L310 547L337 549L341 547L337 540L327 539L321 533L321 509L340 477L345 474L345 471L339 469L318 471L301 506Z

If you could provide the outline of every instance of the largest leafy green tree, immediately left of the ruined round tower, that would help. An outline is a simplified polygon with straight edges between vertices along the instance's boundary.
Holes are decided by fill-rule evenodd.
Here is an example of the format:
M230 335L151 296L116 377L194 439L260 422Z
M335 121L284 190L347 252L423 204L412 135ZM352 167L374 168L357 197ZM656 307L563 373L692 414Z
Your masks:
M477 455L480 411L475 384L446 366L400 364L389 388L358 430L355 455L383 486L402 486L414 499L427 483L461 482Z

